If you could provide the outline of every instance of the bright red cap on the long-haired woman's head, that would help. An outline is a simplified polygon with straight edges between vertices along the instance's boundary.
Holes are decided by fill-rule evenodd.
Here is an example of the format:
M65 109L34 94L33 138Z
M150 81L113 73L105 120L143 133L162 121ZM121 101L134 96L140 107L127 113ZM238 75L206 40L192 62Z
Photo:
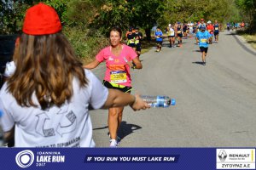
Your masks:
M61 20L54 8L39 3L27 9L22 31L28 35L54 34L61 31Z

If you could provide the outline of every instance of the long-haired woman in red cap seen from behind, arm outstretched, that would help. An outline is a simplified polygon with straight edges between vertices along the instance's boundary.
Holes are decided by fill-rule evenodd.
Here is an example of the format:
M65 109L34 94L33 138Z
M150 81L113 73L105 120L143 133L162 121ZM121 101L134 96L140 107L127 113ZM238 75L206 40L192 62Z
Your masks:
M54 8L29 8L22 31L16 70L0 91L4 137L15 134L16 147L94 147L89 105L148 108L139 96L105 88L84 70Z

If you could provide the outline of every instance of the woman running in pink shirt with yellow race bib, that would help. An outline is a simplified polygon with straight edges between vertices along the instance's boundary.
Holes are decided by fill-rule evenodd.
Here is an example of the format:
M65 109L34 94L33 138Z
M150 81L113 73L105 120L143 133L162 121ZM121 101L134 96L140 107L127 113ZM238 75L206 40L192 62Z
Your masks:
M103 48L96 59L84 68L94 69L101 62L106 62L106 73L103 84L106 88L118 89L124 93L131 93L131 72L130 66L134 63L136 69L142 69L143 65L137 57L136 52L129 46L121 43L122 31L113 27L109 32L111 45ZM119 144L117 131L122 122L124 107L113 107L108 109L108 129L110 134L110 147Z

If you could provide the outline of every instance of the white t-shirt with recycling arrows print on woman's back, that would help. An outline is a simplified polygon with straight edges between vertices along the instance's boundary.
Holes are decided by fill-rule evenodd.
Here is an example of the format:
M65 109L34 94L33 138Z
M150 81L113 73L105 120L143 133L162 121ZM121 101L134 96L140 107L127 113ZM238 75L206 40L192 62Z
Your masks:
M79 80L73 79L73 97L61 107L53 106L49 111L40 107L21 107L12 94L0 91L0 118L3 132L15 126L15 147L94 147L92 125L88 111L89 104L99 109L108 98L108 88L102 86L96 76L85 70L88 84L79 87ZM32 97L35 104L38 99Z

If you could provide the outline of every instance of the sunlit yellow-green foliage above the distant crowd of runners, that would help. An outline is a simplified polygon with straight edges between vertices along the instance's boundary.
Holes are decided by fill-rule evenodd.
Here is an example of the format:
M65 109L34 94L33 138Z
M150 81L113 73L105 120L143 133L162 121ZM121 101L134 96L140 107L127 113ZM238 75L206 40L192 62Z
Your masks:
M232 16L239 20L233 0L165 0L165 3L163 20L159 21L165 26L176 21L196 22L201 18L221 23L230 20Z

